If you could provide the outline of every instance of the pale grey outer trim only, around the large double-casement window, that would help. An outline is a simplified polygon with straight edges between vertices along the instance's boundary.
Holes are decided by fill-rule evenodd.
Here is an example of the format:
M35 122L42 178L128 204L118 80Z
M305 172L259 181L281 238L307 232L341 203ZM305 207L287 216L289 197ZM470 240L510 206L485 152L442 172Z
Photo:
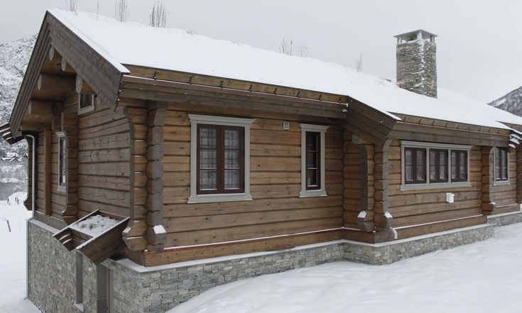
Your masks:
M254 119L188 114L190 119L190 197L187 203L250 201L250 126ZM197 124L244 127L244 192L237 194L197 194Z

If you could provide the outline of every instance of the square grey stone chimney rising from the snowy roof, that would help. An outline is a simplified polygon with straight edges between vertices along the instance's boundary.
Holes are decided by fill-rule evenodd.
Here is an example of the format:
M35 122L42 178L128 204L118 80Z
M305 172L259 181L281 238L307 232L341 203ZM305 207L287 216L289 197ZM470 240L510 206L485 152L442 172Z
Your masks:
M428 97L437 97L437 35L418 30L397 38L398 87Z

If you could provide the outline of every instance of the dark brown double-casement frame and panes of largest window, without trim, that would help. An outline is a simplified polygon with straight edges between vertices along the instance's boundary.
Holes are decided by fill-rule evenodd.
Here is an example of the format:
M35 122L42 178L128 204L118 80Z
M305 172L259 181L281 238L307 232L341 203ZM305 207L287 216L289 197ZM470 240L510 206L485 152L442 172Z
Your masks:
M244 192L244 127L197 125L197 194Z

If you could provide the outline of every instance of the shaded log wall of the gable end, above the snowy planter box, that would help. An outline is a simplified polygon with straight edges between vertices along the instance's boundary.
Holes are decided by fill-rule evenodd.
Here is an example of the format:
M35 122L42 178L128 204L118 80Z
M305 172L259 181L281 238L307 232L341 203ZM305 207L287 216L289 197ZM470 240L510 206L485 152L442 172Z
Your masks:
M36 209L39 219L61 228L97 209L129 215L129 121L107 104L77 116L77 94L62 102L53 128L37 138ZM58 137L67 134L67 192L58 190ZM45 172L45 133L50 134L50 173ZM46 178L48 177L48 178ZM48 190L46 180L50 181ZM46 205L45 194L50 194Z

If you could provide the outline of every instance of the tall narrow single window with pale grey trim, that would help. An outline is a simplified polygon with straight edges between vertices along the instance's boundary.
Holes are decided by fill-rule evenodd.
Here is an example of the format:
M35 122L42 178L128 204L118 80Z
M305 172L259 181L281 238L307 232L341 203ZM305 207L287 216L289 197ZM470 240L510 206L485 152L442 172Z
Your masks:
M328 126L301 124L301 192L325 197L325 133Z

